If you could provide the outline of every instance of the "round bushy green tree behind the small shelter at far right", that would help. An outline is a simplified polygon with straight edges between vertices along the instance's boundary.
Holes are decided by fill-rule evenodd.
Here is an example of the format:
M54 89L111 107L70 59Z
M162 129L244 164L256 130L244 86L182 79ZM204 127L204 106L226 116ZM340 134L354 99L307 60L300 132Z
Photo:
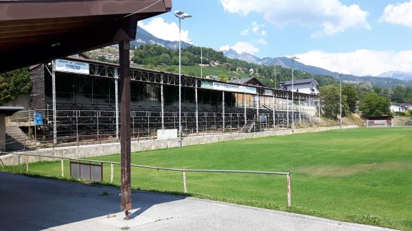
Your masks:
M370 92L362 99L359 110L368 116L382 116L391 114L391 101L374 92Z

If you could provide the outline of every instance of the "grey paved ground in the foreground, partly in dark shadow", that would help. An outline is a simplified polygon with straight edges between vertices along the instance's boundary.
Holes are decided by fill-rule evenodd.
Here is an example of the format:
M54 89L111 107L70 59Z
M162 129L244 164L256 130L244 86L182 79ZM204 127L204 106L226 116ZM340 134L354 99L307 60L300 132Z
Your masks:
M132 202L132 219L125 221L119 210L119 189L0 172L0 231L112 231L126 227L129 230L389 230L141 191L133 192Z

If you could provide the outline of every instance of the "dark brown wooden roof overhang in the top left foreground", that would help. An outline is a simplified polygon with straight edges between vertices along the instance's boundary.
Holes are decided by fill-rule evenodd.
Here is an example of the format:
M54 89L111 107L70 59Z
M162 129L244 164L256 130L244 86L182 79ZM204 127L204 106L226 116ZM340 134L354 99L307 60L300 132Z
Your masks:
M0 1L0 72L135 39L172 0Z

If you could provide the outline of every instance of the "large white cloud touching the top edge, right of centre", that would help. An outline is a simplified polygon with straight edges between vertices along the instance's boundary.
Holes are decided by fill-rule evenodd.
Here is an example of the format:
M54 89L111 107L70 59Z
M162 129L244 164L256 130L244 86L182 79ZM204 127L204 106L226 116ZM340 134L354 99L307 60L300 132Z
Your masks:
M312 37L344 32L352 27L370 29L366 19L369 12L356 4L343 5L339 0L220 0L220 3L230 13L244 16L250 12L262 13L266 21L279 27L290 23L321 26Z

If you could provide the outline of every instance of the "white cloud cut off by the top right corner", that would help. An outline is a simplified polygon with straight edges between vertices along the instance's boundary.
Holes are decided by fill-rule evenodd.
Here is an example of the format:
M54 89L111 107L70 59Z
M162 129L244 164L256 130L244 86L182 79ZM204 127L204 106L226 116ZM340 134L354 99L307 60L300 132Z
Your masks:
M404 3L396 3L396 5L387 5L379 21L412 28L412 0Z

